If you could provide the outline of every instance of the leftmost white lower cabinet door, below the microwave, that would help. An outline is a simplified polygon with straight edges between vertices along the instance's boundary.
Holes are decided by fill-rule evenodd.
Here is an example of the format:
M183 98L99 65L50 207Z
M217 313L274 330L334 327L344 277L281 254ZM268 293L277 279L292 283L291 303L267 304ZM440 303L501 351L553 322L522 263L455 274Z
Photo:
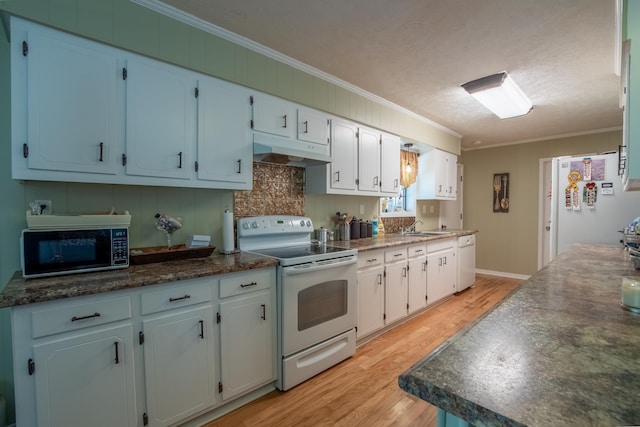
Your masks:
M131 325L39 344L33 357L38 426L138 425Z

